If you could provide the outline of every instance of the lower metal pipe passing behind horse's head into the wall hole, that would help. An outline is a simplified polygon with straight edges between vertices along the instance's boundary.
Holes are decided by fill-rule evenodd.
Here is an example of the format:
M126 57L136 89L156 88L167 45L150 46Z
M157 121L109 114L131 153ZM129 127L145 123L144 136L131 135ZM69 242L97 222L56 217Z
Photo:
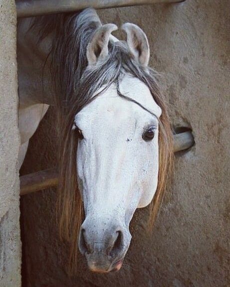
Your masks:
M174 152L185 150L194 145L192 132L174 135ZM20 176L20 195L42 190L58 184L56 168L46 169Z

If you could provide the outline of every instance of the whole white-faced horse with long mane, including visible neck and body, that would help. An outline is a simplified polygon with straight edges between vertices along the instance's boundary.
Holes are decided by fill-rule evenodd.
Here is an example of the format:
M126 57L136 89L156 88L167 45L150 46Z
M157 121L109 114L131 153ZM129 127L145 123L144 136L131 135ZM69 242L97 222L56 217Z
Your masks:
M57 213L72 271L78 249L91 271L120 270L135 210L150 205L154 224L173 166L170 121L158 73L148 66L147 36L125 23L126 40L119 40L112 35L117 29L102 24L92 8L18 24L19 163L55 106Z

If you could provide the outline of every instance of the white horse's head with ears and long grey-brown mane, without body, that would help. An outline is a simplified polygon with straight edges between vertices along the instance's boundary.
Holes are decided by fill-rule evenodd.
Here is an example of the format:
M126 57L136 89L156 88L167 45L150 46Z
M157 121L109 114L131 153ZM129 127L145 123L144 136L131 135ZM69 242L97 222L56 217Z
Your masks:
M63 77L75 81L63 92L70 95L65 99L67 109L60 108L63 99L58 99L60 230L71 241L73 263L80 230L78 246L90 270L110 272L121 268L135 210L147 206L155 195L152 219L157 214L171 162L172 138L155 73L148 67L145 33L126 23L127 41L118 41L111 36L116 25L101 25L95 12L89 23L89 12L74 21L81 27L73 43L80 63L73 75L77 81L71 76L76 67L72 54L66 57L60 42L54 49L59 51L59 63L63 62L57 66L58 74L63 67ZM81 225L82 201L85 219Z

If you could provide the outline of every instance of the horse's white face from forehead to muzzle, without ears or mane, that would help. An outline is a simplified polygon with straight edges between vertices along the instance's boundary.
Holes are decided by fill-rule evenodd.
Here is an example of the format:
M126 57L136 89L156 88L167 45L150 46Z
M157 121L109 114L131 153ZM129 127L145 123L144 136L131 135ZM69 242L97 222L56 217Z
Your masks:
M120 91L161 115L148 87L126 75ZM121 267L138 207L150 203L158 181L158 120L111 86L75 117L82 133L77 150L78 182L85 220L79 249L97 272Z

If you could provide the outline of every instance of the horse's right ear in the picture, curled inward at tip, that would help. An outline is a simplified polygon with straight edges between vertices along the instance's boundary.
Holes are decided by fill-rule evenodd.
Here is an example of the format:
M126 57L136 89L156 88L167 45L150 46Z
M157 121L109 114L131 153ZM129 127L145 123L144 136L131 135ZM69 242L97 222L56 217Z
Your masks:
M127 34L127 44L136 61L143 66L148 66L150 51L146 34L132 23L125 23L121 28Z

